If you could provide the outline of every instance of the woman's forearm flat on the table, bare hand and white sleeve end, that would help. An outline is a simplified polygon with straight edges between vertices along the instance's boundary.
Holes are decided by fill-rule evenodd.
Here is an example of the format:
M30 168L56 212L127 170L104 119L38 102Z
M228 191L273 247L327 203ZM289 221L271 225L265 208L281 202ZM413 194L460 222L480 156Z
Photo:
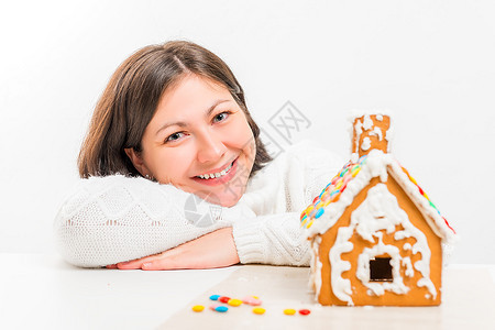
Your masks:
M184 270L217 268L242 264L308 266L309 242L298 213L240 218L223 228L156 255L107 268Z

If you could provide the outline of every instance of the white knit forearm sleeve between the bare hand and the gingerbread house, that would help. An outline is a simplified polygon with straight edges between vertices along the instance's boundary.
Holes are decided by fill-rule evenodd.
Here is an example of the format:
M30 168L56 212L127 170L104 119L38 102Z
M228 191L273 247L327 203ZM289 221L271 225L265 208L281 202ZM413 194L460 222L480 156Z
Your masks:
M297 212L235 221L232 234L241 263L308 266L309 241L299 223Z

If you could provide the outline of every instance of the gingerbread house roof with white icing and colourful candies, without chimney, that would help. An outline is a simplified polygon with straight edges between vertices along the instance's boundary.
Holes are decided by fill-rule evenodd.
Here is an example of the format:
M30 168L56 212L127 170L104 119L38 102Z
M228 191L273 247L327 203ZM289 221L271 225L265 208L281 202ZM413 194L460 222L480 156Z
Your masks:
M432 230L444 242L454 240L455 231L440 215L428 195L392 154L381 150L372 150L356 162L345 164L312 204L302 211L300 221L307 229L307 237L312 238L329 230L372 178L380 177L382 182L386 182L388 175L392 175L400 185Z

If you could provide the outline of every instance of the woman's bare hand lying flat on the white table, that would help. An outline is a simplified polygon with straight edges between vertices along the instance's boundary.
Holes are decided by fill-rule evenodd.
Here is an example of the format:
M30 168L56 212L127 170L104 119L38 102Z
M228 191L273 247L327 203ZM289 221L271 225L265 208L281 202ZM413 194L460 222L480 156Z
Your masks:
M119 270L202 270L231 266L239 263L232 228L222 228L165 252L134 261L108 265Z

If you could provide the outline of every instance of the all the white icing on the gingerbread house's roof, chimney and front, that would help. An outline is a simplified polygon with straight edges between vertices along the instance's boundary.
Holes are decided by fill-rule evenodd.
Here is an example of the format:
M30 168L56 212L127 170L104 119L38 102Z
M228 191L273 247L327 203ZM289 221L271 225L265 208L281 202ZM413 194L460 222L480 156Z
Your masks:
M354 304L352 296L355 288L351 287L351 279L344 275L352 268L355 278L367 288L366 293L370 296L382 296L385 292L406 295L413 287L406 286L404 278L417 278L416 287L425 287L428 292L425 297L435 300L441 288L433 284L433 280L437 283L437 278L432 277L433 280L430 278L431 251L428 239L413 224L408 213L400 208L397 197L388 190L386 185L388 178L392 177L400 186L422 219L441 239L443 254L446 246L457 240L455 231L440 215L416 179L388 153L389 143L385 153L381 150L371 150L367 155L359 156L360 147L363 151L373 148L369 136L377 136L378 141L383 139L389 141L393 134L392 125L388 130L382 131L381 128L374 127L373 120L383 121L384 117L382 113L373 112L352 118L355 148L352 151L351 161L300 215L300 224L306 229L306 235L311 244L310 286L316 292L315 297L318 301L324 279L321 262L324 257L319 255L321 235L336 226L358 194L369 187L365 199L352 209L349 226L337 228L337 237L331 242L328 260L332 294L348 305ZM363 132L366 132L367 136L361 136ZM370 187L373 178L378 178L380 182ZM354 246L353 242L358 241L353 238L370 242L370 248L361 243ZM409 239L409 242L406 239ZM353 250L358 255L355 262L342 258L344 253ZM389 261L389 277L386 280L372 279L371 268L376 265L372 261L384 256ZM415 262L411 261L413 257ZM409 285L410 280L406 283Z

